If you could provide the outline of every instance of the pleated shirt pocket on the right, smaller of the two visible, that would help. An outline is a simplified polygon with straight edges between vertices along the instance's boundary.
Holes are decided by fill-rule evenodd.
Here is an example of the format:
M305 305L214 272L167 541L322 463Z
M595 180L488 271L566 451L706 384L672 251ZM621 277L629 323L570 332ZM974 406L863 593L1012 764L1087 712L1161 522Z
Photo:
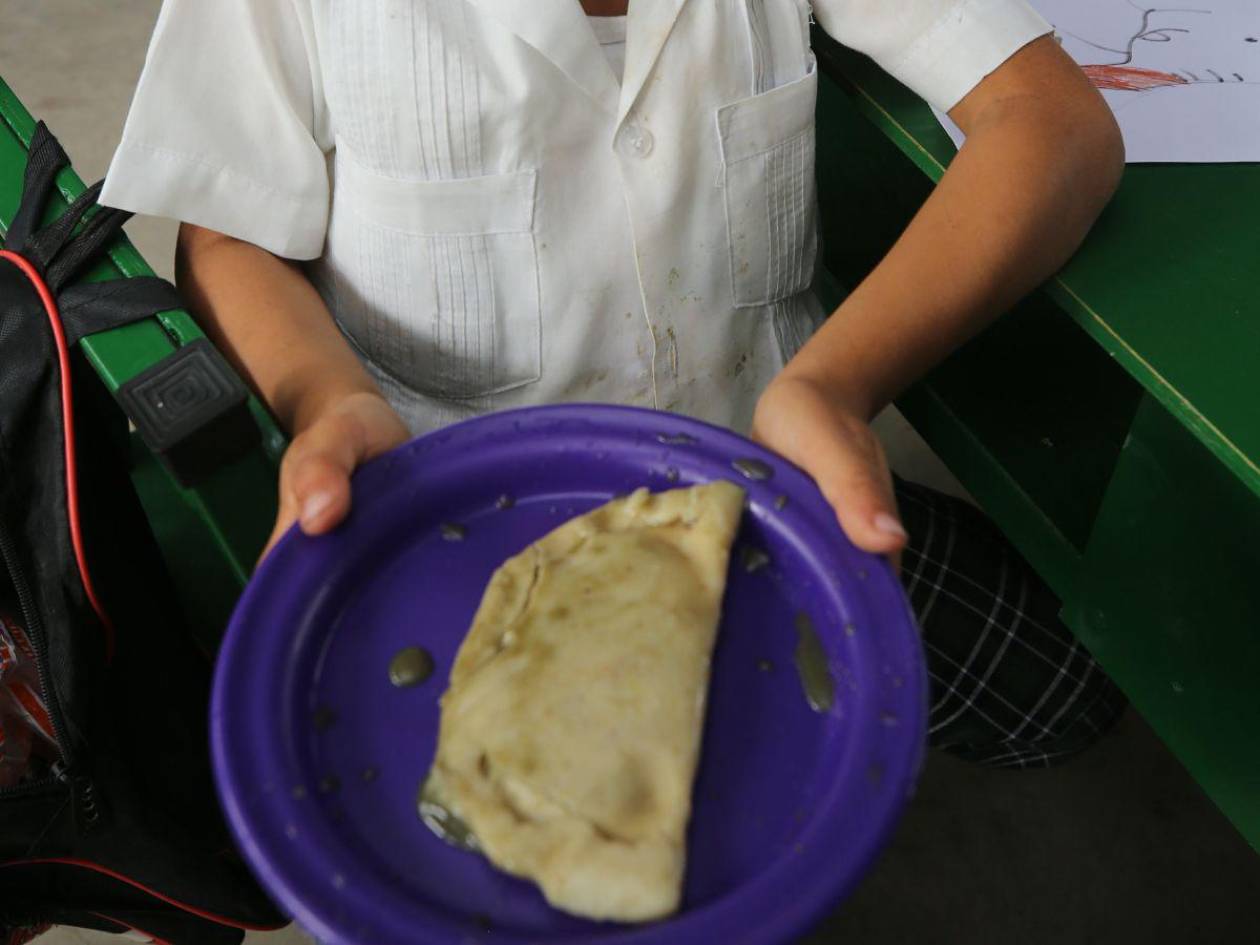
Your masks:
M811 59L801 78L717 110L736 307L770 305L813 281L816 98Z

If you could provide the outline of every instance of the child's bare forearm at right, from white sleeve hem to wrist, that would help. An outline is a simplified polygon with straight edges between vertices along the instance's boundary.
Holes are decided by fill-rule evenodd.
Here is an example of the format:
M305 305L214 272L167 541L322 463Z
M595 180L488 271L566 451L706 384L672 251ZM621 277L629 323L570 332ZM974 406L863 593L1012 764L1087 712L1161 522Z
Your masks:
M940 185L788 368L864 418L1053 273L1123 170L1110 111L1048 38L951 115L968 140Z

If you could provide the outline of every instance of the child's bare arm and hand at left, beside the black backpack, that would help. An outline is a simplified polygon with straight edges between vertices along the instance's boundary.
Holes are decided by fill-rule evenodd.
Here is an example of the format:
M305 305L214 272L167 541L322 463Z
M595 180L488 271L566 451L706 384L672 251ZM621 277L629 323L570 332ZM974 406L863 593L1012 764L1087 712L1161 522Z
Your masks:
M198 321L294 437L267 547L295 520L326 532L350 507L354 467L404 442L407 427L295 263L184 224L175 273Z

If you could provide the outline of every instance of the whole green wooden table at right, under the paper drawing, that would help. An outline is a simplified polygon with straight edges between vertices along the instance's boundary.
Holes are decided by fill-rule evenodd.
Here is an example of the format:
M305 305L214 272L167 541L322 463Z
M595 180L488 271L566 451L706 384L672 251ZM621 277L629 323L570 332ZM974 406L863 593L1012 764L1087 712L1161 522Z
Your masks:
M869 59L815 49L834 305L955 149ZM1128 168L1062 272L898 407L1260 849L1257 219L1260 165Z

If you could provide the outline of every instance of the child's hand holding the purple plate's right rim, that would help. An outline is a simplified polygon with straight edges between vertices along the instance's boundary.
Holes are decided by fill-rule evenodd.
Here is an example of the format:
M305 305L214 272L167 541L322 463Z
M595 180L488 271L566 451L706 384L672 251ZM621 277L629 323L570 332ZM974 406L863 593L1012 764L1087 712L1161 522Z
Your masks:
M859 548L893 564L906 544L892 474L869 425L825 383L784 372L761 394L752 437L809 472Z

